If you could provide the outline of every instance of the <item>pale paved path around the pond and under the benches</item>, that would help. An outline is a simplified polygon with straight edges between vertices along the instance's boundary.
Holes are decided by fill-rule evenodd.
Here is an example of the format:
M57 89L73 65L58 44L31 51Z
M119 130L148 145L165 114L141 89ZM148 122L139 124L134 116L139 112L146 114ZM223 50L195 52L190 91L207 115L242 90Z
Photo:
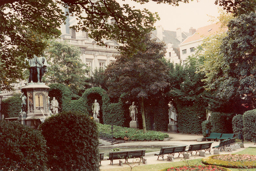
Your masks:
M111 145L109 147L113 147L113 148L118 148L121 146L143 146L143 145L172 145L172 146L179 146L179 145L190 145L190 144L198 144L198 143L206 143L206 141L202 141L202 142L197 142L194 141L197 138L201 138L202 135L183 135L183 134L169 134L170 137L173 137L171 140L169 141L150 141L150 142L128 142L128 143L121 143L121 144L114 144ZM219 142L216 141L212 141L212 147L219 145ZM245 148L248 147L256 147L256 145L254 145L253 143L245 143L244 144ZM106 146L105 146L106 147ZM236 151L233 151L231 153L235 153L238 151L242 151L245 148L240 148L237 149ZM220 154L230 154L230 152L223 152L224 150L222 150L222 152L220 152ZM159 153L158 152L150 152L150 153L146 153L145 158L147 159L147 163L148 165L150 164L160 164L160 163L168 163L170 161L166 161L167 159L167 155L165 155L164 157L164 161L162 160L161 157L159 157L160 160L157 160L157 156L154 156L155 153ZM178 157L179 154L175 154L174 155L174 162L176 161L181 161L183 160L183 155L180 155ZM211 150L211 154L209 154L208 152L206 152L206 157L213 155L213 149ZM108 157L104 157L104 160L101 161L101 170L111 170L111 168L123 168L123 167L129 167L127 164L124 164L123 166L119 166L119 160L113 160L113 165L110 165L110 160L107 160ZM190 156L190 159L199 159L199 158L203 158L202 156L199 156L199 154L197 153L197 155L195 155L195 152L193 152L193 156ZM133 161L134 159L128 159L128 161ZM141 166L143 166L144 164L141 163Z

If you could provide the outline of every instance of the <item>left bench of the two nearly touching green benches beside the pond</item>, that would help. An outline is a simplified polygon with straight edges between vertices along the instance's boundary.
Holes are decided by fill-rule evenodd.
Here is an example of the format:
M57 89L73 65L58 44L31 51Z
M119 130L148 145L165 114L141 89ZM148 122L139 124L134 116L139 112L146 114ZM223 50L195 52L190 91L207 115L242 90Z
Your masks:
M158 156L157 160L159 157L162 157L164 160L164 155L166 155L166 154L172 155L174 158L175 153L179 153L179 155L183 154L183 152L186 150L186 147L187 147L187 145L186 146L175 146L175 147L162 147L160 149L159 154L155 154L155 155Z

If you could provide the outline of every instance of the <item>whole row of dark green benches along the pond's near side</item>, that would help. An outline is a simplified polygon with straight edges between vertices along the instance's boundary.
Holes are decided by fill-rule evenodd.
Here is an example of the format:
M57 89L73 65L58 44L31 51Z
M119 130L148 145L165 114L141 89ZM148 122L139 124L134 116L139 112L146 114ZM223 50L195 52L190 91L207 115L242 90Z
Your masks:
M213 148L217 149L224 149L225 147L228 147L230 145L235 144L235 139L236 138L230 138L227 140L220 141L220 144L218 146L215 146ZM185 146L175 146L175 147L162 147L160 149L159 154L157 155L157 160L159 157L162 157L164 160L164 155L172 155L174 157L175 153L184 154L184 153L190 153L192 156L193 151L195 151L197 154L199 151L204 150L205 152L208 151L209 154L211 154L211 145L213 142L208 142L208 143L201 143L201 144L191 144L188 149L186 150L187 145ZM131 150L131 151L116 151L116 152L109 152L109 158L107 160L110 160L110 164L112 163L113 165L113 160L115 159L125 159L125 162L128 161L128 158L140 158L140 161L143 159L143 156L145 156L145 149L142 150ZM100 157L100 164L101 160L103 160L104 153L99 153ZM178 156L179 156L178 155Z

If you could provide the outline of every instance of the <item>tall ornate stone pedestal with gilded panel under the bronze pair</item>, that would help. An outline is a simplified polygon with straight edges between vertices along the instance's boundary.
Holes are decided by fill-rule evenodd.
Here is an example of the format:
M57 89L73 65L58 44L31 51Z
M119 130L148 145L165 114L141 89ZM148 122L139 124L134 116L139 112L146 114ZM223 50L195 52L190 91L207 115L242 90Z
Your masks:
M26 111L20 113L18 119L21 124L37 128L41 124L40 118L51 115L48 103L49 89L43 82L30 82L21 88L21 92L26 96Z

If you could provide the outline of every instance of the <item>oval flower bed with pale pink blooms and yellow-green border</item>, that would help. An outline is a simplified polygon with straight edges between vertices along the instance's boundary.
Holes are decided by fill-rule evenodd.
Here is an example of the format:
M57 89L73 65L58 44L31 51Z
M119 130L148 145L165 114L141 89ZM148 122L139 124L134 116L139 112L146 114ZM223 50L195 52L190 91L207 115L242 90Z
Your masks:
M202 163L226 168L256 168L255 155L213 155L202 159Z

